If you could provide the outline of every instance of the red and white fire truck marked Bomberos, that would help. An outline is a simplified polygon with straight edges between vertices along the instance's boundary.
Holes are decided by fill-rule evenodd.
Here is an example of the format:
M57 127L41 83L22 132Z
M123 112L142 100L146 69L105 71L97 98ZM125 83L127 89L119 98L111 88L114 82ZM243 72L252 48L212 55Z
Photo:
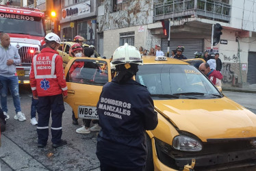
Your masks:
M29 83L29 70L34 53L44 40L44 13L34 8L0 5L0 32L9 34L18 49L21 64L16 66L18 83Z

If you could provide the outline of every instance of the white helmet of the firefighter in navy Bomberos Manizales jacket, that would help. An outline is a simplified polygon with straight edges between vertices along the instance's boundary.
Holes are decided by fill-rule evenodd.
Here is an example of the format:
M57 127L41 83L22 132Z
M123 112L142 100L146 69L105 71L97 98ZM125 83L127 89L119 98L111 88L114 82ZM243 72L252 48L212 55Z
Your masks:
M140 55L140 51L136 49L136 47L130 46L125 43L125 45L118 47L116 51L114 51L112 58L112 66L116 66L119 64L139 64L142 65L143 61Z

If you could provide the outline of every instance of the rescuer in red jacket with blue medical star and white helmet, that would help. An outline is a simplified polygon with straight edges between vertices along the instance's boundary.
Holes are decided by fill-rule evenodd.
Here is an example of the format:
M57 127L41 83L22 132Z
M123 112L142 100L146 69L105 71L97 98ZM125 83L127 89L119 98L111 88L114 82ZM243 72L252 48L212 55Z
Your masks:
M33 57L30 84L34 98L38 98L38 148L47 145L49 118L51 115L51 142L53 148L66 145L62 140L63 98L67 97L68 88L64 75L62 57L58 55L60 37L49 33L45 36L46 47Z

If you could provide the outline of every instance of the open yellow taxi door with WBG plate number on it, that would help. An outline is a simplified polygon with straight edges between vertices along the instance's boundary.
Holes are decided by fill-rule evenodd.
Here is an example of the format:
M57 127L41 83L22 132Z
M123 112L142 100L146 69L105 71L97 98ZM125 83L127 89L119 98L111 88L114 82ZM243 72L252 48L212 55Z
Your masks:
M76 118L99 119L96 105L105 83L111 81L110 61L74 57L65 68L68 97Z

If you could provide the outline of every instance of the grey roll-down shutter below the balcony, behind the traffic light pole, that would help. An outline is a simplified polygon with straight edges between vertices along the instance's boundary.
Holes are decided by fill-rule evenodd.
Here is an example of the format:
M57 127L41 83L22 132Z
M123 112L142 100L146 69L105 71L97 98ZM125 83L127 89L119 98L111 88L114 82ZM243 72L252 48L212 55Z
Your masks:
M168 40L162 38L161 49L166 54L167 52ZM185 47L183 55L188 58L194 58L194 53L196 51L203 52L203 39L171 39L170 40L170 51L175 50L177 46Z

